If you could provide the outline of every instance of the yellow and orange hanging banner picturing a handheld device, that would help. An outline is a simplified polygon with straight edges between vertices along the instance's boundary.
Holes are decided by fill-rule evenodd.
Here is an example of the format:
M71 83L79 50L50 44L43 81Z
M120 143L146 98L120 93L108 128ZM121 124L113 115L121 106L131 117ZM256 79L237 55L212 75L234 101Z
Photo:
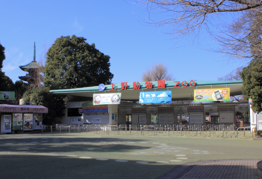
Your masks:
M194 102L229 100L230 88L194 89Z

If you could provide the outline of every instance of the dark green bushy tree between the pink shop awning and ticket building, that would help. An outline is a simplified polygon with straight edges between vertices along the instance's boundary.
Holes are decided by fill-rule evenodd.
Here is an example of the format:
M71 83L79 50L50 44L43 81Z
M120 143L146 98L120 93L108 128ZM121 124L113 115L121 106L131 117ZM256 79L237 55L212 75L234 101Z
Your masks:
M43 124L51 124L56 117L65 115L64 96L53 94L49 92L48 88L26 91L23 95L23 101L48 108L48 114L46 114Z

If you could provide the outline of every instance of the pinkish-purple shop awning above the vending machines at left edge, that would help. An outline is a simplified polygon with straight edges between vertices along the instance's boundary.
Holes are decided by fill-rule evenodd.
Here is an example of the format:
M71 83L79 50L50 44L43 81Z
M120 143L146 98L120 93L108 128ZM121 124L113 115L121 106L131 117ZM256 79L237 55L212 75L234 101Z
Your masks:
M48 108L38 105L0 104L0 112L8 113L48 113Z

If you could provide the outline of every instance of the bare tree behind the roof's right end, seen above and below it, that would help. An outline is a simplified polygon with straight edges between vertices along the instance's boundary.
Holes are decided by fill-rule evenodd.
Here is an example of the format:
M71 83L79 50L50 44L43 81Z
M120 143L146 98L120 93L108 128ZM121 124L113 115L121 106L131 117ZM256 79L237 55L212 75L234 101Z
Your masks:
M226 74L225 76L219 77L217 80L218 81L242 80L240 76L241 71L242 71L241 68L237 68L236 70ZM244 101L245 99L243 95L237 95L237 96L230 96L230 101L226 101L226 102L244 102Z

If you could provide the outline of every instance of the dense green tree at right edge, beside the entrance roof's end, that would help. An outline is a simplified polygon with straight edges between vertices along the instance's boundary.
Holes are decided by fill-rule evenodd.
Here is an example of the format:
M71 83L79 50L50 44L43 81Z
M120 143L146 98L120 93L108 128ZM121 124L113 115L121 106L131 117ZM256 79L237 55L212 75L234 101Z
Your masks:
M250 64L243 68L241 72L243 80L242 93L245 100L252 99L252 106L254 112L262 111L262 61L253 60Z

